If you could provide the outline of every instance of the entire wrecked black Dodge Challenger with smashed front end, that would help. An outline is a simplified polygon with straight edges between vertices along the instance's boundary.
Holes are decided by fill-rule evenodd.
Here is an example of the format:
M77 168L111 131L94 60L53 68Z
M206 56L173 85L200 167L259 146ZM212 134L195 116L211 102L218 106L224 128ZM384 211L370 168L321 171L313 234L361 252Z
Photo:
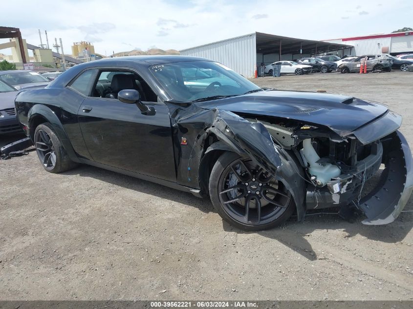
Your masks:
M412 154L386 106L327 93L262 89L185 56L76 65L23 91L18 119L46 171L79 163L211 198L236 227L259 230L313 208L357 207L392 222L413 189ZM371 192L366 180L381 177Z

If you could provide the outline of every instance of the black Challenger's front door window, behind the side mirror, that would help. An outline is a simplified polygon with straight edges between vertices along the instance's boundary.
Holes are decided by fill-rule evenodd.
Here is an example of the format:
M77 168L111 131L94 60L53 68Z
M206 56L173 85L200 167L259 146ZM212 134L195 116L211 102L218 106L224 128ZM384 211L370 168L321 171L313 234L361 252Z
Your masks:
M119 91L126 89L137 90L142 101L157 102L151 87L138 74L126 70L100 70L92 97L117 100Z

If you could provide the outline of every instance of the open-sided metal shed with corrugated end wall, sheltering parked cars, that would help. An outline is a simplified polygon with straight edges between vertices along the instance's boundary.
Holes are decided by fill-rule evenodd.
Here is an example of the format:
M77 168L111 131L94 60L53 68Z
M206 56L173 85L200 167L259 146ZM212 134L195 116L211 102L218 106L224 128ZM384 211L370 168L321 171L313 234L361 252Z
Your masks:
M310 41L254 32L244 36L181 50L181 55L220 62L245 77L254 76L261 62L294 60L320 53L350 54L347 43Z

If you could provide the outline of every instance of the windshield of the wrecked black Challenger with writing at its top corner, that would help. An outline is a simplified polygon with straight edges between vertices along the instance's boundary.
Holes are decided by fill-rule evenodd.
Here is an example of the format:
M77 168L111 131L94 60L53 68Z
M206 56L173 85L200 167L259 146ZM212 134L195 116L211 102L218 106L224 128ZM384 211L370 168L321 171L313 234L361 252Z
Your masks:
M152 65L153 76L172 101L192 102L241 95L261 88L217 62L191 61Z

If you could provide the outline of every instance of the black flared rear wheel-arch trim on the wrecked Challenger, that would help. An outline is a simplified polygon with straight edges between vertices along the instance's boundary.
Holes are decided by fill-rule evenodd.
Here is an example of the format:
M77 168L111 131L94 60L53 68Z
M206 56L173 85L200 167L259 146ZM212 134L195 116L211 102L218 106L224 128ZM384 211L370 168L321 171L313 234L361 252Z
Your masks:
M63 124L60 122L56 114L49 107L43 104L34 105L32 108L30 108L29 112L27 113L28 132L33 142L34 131L36 129L36 127L34 127L33 124L35 124L36 117L44 118L52 126L57 137L59 138L60 142L65 148L65 151L69 156L70 160L74 162L79 162L76 153L73 150L73 146L67 138L67 134L65 132Z

